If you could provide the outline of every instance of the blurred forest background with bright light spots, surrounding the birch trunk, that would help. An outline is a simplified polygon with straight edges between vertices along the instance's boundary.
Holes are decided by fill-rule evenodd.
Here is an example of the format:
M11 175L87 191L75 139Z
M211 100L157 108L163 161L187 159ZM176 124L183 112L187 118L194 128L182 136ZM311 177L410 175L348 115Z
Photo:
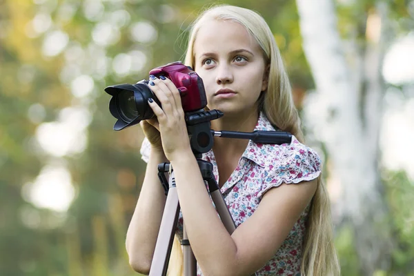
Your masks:
M257 10L266 19L302 111L317 78L302 46L300 2L226 3ZM308 137L325 160L342 275L414 275L414 1L311 2L314 8L333 4L326 15L335 19L344 48L350 41L364 49L382 43L384 52L372 66L383 91L373 143L386 235L370 239L382 226L365 217L359 239L353 216L337 211L344 189L330 173L334 154L323 137ZM124 244L144 177L143 135L139 126L112 130L115 119L103 88L147 79L150 69L183 60L186 28L209 3L0 0L1 276L137 275ZM368 27L381 25L384 7L388 35L378 41ZM353 181L357 196L357 175ZM370 209L371 201L364 202L357 212ZM373 220L377 209L369 213ZM381 242L384 251L373 246Z

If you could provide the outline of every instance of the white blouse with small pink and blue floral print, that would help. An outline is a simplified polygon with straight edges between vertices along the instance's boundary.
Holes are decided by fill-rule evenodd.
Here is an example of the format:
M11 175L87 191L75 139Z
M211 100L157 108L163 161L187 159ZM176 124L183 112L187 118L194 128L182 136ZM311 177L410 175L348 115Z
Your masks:
M261 113L255 130L275 130L275 128ZM150 144L147 139L144 139L141 155L146 162L148 162L149 151ZM202 159L213 164L213 173L218 183L219 173L213 150L204 153ZM321 160L317 153L299 143L294 136L290 144L282 145L255 144L250 140L239 159L237 168L221 187L221 193L236 226L239 226L255 213L264 193L270 188L283 183L297 184L301 181L310 181L317 178L320 173ZM309 207L310 205L305 208L277 253L257 270L256 276L300 276L302 242ZM180 212L177 225L177 234L180 239L183 235L182 227L183 218ZM197 275L202 275L198 266Z

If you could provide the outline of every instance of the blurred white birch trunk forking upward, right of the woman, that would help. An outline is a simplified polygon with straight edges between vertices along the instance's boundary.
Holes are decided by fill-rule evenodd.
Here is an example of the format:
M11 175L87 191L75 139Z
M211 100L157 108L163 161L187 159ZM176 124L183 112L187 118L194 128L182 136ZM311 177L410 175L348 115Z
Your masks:
M375 270L388 270L392 245L378 142L386 6L377 5L379 15L371 19L382 26L371 25L368 40L346 42L353 46L353 55L347 55L348 48L339 37L332 0L297 0L297 9L316 86L305 101L304 121L326 146L330 174L339 180L341 196L333 205L333 215L351 222L360 271L373 275Z

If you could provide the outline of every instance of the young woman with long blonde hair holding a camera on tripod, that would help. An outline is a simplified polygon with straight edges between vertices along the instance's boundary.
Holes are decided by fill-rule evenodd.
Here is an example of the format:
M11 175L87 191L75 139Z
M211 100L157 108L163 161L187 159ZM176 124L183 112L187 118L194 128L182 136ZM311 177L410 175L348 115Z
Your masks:
M190 149L179 92L152 76L162 109L150 99L157 119L141 121L148 165L126 239L132 268L150 268L166 200L157 164L169 160L181 206L177 235L184 218L198 275L339 275L322 165L302 144L286 70L264 19L235 6L206 10L193 24L185 63L203 79L208 108L224 112L211 122L214 130L279 128L294 137L280 146L216 137L203 155L237 225L229 235Z

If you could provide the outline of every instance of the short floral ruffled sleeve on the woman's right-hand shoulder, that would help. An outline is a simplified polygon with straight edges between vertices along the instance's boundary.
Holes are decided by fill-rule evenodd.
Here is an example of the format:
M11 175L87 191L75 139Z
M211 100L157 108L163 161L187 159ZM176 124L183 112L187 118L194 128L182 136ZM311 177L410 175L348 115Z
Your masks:
M270 188L310 181L320 174L321 159L315 150L297 140L294 144L284 144L280 146L279 154L266 166L257 197L262 198Z

